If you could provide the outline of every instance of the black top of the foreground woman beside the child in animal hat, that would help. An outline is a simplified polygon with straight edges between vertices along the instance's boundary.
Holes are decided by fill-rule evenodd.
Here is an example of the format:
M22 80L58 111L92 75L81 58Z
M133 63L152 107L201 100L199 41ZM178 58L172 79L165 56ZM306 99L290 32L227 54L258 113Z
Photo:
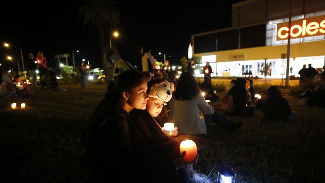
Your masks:
M102 104L90 118L86 153L96 182L132 182L133 150L130 116L111 102Z

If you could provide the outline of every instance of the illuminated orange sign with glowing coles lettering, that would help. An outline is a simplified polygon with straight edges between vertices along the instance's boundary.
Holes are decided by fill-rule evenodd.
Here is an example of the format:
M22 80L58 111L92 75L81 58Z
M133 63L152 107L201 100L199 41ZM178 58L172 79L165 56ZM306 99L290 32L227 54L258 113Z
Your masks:
M325 35L325 15L291 21L291 38ZM289 37L289 22L277 24L276 40Z

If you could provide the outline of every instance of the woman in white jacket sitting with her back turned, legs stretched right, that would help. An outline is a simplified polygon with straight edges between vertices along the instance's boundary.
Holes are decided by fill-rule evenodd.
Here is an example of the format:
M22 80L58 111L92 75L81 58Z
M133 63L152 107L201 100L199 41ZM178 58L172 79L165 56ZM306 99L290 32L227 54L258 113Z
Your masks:
M206 126L210 122L215 122L227 130L237 129L242 125L241 122L235 123L218 114L206 102L194 76L189 72L183 72L178 80L170 112L179 132L185 134L207 134Z

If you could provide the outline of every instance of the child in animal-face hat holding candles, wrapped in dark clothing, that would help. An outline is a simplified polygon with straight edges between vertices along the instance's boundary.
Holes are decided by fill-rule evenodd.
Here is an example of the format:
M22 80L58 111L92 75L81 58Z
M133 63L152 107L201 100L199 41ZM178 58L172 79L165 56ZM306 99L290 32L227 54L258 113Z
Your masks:
M166 174L176 172L174 160L180 155L179 146L183 140L191 139L195 141L198 149L201 149L205 143L199 137L185 134L178 135L177 127L174 128L172 136L167 136L164 128L160 127L154 119L161 113L164 103L171 99L173 90L173 82L168 82L165 79L156 79L149 82L147 90L149 100L146 110L133 110L131 112L134 126L132 139L137 148L135 151L140 152L143 160L143 167L141 166L143 169L140 171L148 172L152 176L152 182L157 179L166 179ZM161 157L157 159L156 154L160 154ZM195 173L193 162L184 161L180 165L183 165L182 167L189 174L191 182L212 182L199 173ZM171 172L167 173L167 169L170 169ZM170 181L170 177L166 179L166 181L168 180Z

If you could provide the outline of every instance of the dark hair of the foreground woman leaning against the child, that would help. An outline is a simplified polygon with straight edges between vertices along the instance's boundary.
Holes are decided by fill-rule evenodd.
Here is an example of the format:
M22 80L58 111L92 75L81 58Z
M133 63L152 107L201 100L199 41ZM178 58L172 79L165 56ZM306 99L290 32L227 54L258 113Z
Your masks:
M145 80L145 77L138 71L126 70L122 72L114 82L110 82L107 86L107 92L101 104L108 100L120 103L123 100L123 91L131 92Z

